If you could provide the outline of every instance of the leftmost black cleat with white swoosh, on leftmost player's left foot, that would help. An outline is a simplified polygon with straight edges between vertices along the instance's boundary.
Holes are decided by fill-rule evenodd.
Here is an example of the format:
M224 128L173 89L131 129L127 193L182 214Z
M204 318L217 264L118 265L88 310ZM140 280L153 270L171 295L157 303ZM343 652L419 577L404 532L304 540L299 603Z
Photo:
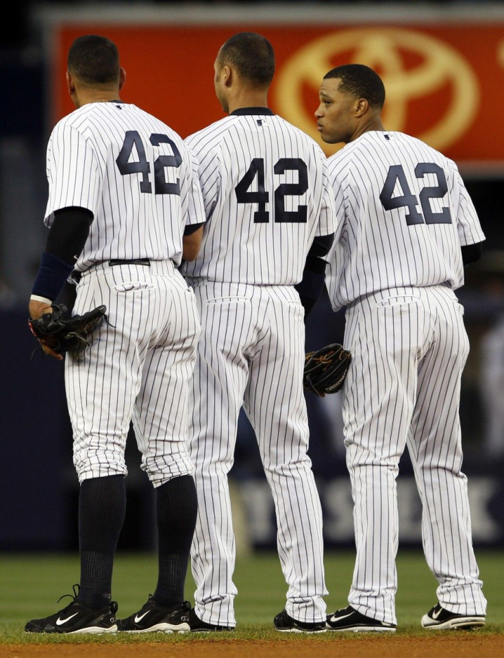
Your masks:
M73 587L73 601L66 608L42 619L32 619L25 626L27 633L116 633L117 603L95 609L77 600L76 585ZM64 594L64 596L72 596Z

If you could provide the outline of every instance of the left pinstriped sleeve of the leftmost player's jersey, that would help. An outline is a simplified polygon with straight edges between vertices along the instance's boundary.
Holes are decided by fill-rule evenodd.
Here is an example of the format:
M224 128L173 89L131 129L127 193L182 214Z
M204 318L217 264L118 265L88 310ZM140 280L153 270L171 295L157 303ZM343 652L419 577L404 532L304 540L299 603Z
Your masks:
M101 175L95 151L79 130L60 121L47 145L49 197L45 223L55 210L77 206L97 215L101 197Z

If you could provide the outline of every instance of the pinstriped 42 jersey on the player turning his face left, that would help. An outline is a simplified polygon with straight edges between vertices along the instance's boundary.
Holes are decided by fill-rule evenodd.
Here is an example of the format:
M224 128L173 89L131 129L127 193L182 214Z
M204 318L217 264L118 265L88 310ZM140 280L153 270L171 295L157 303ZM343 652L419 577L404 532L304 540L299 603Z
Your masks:
M485 236L453 160L401 132L365 132L329 158L343 221L329 259L335 310L398 286L464 283L460 245Z

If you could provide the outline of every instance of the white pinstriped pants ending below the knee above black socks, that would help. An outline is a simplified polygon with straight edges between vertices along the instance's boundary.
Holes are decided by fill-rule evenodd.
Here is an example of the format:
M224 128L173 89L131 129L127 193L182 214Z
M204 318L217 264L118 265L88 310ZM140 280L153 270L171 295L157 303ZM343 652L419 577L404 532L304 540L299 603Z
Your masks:
M66 356L65 384L79 481L126 474L133 421L155 487L191 474L188 389L201 334L194 293L171 260L98 265L77 286L74 312L108 310L90 347Z

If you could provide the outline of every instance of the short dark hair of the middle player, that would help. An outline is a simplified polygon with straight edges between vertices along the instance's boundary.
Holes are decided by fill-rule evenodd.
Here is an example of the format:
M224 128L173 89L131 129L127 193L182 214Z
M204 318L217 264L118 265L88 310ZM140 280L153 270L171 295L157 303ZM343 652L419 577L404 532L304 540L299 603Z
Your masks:
M268 86L275 74L273 46L261 34L238 32L220 48L220 64L234 66L238 75L257 86Z

